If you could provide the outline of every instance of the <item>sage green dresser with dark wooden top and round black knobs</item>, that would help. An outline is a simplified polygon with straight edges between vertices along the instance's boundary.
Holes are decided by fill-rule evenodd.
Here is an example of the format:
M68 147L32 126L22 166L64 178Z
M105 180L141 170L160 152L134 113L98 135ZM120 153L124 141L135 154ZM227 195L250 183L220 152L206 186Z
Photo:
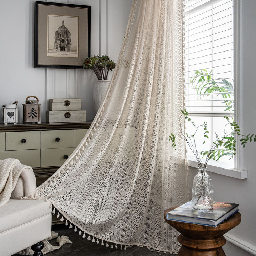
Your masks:
M0 160L17 158L31 166L39 186L70 156L90 125L91 121L0 124Z

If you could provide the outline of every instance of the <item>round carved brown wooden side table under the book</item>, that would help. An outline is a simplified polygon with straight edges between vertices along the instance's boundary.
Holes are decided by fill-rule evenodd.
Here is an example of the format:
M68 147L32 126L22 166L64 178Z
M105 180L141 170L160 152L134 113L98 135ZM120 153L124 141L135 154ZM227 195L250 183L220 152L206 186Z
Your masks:
M212 227L167 220L166 213L176 207L166 210L164 218L169 225L181 233L178 241L182 246L178 256L225 256L222 246L226 243L226 239L223 235L241 222L241 214L236 212L217 227Z

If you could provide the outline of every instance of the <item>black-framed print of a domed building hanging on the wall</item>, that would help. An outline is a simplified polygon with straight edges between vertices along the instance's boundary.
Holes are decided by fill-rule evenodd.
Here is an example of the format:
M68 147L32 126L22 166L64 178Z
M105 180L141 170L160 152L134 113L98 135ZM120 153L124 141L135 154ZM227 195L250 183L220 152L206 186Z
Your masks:
M90 56L91 6L35 2L35 68L82 68Z

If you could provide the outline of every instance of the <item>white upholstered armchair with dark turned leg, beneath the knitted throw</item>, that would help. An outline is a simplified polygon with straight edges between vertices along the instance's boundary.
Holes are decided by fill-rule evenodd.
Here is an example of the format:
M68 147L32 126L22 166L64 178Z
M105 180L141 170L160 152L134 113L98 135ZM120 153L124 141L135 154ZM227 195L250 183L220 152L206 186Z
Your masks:
M1 256L10 256L29 246L42 255L42 240L51 235L51 207L45 200L20 200L36 188L31 169L24 169L18 178L11 199L0 207Z

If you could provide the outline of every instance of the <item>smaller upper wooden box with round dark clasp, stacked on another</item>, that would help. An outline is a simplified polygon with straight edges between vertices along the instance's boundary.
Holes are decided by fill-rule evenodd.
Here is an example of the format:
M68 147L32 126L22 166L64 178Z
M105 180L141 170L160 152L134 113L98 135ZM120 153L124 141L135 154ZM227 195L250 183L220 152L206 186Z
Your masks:
M49 110L81 110L81 99L49 99Z

